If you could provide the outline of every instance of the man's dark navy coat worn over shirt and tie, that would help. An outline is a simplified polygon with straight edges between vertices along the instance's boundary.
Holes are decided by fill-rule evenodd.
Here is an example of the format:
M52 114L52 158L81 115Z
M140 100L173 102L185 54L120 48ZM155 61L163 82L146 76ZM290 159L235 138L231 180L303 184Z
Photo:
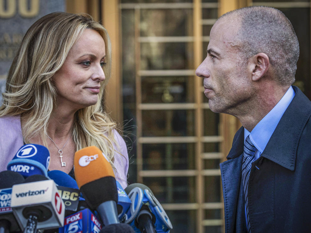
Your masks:
M252 233L311 232L311 102L293 88L295 97L252 164L248 184ZM228 160L220 164L226 232L245 232L240 189L243 146L241 127Z

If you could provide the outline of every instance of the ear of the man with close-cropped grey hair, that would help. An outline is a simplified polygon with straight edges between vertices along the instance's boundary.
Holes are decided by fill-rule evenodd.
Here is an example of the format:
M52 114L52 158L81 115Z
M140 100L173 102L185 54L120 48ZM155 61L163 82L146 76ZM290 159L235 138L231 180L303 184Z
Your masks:
M252 73L252 80L258 81L269 69L270 62L266 53L258 53L250 58L249 69Z

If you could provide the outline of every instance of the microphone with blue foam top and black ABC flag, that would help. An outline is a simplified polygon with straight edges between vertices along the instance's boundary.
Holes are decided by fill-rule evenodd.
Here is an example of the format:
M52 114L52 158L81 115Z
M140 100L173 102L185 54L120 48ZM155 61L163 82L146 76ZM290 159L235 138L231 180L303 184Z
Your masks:
M80 190L76 180L66 172L59 170L49 171L48 177L56 183L58 193L65 203L65 216L76 212L80 197Z

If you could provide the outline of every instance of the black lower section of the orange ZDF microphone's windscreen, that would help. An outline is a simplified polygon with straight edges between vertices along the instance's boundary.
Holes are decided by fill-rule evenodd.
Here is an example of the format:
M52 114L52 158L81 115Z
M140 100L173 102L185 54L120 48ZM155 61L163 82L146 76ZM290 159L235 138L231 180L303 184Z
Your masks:
M107 188L109 187L109 190ZM82 185L80 191L86 203L95 210L101 203L113 200L118 202L118 190L115 178L112 176L102 177Z

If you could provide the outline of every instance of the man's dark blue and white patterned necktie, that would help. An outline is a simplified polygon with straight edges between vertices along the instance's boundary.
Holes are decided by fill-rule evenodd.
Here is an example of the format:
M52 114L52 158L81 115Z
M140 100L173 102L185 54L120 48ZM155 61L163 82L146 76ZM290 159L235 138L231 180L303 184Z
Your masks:
M247 231L251 233L249 215L248 215L248 178L251 171L252 162L255 161L255 150L256 147L249 139L249 136L245 139L244 142L244 153L243 153L243 163L242 163L242 180L244 188L244 198L245 198L245 207L246 207L246 218L247 218Z

